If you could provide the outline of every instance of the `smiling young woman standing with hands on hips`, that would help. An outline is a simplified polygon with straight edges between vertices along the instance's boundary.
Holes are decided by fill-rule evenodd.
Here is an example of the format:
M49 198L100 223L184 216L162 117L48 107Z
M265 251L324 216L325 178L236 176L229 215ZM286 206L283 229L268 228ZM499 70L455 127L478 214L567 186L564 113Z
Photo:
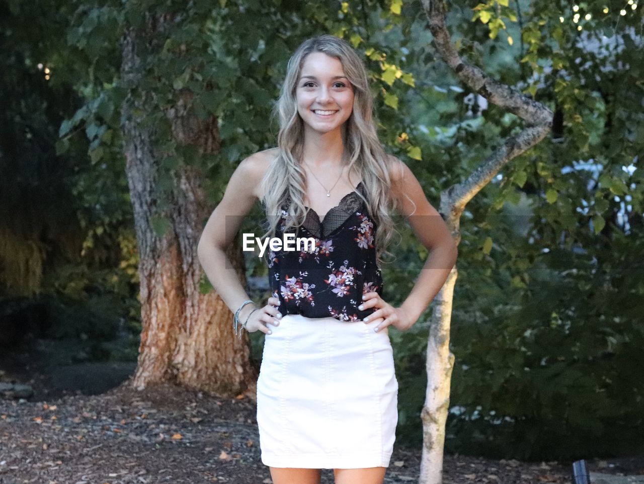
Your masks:
M334 469L337 484L383 483L398 416L388 326L408 330L456 261L448 227L419 181L381 147L372 111L352 47L331 35L303 42L276 104L278 147L240 163L199 243L223 301L245 330L265 333L257 420L261 461L275 484L317 484L320 469ZM252 304L225 270L225 250L258 200L271 237L315 242L267 251L265 306ZM397 308L384 301L381 278L394 210L430 250Z

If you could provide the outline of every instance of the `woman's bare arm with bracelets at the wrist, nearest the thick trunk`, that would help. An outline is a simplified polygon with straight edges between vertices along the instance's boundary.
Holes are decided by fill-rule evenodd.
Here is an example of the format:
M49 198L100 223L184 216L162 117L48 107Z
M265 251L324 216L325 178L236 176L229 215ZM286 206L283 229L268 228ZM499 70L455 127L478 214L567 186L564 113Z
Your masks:
M243 218L258 200L258 185L264 166L265 154L261 151L239 164L228 182L222 201L208 219L197 246L197 256L205 274L232 312L251 298L226 257L226 249L236 236ZM245 321L252 309L252 304L246 304L240 312L240 321Z

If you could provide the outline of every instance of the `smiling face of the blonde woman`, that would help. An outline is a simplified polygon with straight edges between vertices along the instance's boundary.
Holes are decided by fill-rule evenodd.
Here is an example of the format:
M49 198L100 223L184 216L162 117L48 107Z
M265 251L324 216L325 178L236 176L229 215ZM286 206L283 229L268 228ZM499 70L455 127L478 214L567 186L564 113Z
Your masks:
M328 133L339 129L354 106L354 90L342 62L323 52L308 54L299 75L296 100L306 130Z

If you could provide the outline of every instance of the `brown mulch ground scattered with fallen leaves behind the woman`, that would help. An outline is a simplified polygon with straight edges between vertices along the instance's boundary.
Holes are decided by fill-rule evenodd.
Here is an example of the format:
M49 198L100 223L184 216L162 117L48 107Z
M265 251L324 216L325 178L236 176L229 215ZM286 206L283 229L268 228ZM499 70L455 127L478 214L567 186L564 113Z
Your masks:
M23 380L35 389L46 381ZM270 484L255 416L247 395L222 398L168 384L137 391L128 380L98 395L41 389L27 400L0 398L0 484ZM419 449L396 446L385 483L417 482L420 458ZM588 467L644 473L641 459ZM323 470L321 483L333 482L333 471ZM446 455L443 482L569 483L570 463Z

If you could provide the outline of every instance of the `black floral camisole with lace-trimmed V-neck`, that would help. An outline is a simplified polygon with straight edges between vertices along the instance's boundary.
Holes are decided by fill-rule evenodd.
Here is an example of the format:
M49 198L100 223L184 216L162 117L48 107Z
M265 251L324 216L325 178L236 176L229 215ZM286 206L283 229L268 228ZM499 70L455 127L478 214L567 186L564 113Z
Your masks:
M313 209L297 230L296 237L314 237L310 250L273 251L267 247L269 284L272 295L279 299L282 315L301 314L310 318L334 317L340 321L361 321L375 308L358 310L362 295L382 295L381 268L375 257L374 220L368 215L363 183L346 194L320 221ZM283 236L290 200L281 208L276 237Z

